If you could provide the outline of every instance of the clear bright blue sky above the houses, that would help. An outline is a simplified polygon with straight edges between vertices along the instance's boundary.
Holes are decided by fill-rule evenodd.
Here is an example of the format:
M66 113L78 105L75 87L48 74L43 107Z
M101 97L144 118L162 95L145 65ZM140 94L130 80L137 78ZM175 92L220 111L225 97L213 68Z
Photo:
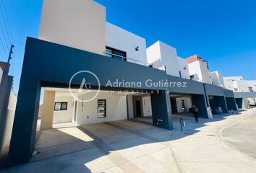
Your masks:
M11 74L17 93L25 39L38 36L43 1L3 1L14 37ZM97 1L106 6L108 22L145 37L147 46L161 40L182 58L199 53L210 71L256 79L255 0Z

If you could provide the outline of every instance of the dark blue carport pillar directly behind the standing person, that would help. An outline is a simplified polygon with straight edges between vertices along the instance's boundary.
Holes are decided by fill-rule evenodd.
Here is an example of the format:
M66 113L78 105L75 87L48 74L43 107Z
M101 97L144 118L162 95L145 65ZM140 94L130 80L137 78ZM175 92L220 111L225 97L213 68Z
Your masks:
M203 94L191 94L192 105L198 107L199 117L208 118L207 105L205 95Z

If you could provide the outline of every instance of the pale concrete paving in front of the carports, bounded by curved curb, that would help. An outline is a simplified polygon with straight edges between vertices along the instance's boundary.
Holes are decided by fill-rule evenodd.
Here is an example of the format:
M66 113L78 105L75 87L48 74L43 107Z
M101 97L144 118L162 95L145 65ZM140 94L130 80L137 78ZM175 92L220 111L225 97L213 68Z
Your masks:
M223 129L253 112L256 110L225 117L218 115L213 120L200 119L200 123L195 123L192 117L185 117L183 132L180 132L179 117L174 117L174 130L130 121L82 125L80 131L92 139L89 148L3 172L256 173L255 159L230 146L222 136ZM69 128L65 130L68 133ZM69 146L75 147L72 143Z

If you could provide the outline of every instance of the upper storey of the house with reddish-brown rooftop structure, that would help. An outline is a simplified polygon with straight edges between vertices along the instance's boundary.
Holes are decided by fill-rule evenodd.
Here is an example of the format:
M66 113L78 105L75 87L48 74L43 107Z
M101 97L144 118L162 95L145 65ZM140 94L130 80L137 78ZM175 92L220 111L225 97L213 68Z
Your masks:
M212 84L208 61L198 56L197 54L186 58L186 60L189 66L190 79L201 81L206 84Z

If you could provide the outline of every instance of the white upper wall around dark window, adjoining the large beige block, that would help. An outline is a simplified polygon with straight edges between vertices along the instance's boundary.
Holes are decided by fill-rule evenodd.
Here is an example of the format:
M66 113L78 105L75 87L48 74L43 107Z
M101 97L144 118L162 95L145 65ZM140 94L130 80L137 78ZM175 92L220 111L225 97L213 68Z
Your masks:
M138 35L123 30L120 27L106 22L106 46L110 48L115 48L117 50L122 50L127 53L127 58L132 58L136 62L142 65L147 63L147 53L146 53L146 40ZM139 47L139 50L136 51L135 48ZM135 61L131 61L134 63Z

